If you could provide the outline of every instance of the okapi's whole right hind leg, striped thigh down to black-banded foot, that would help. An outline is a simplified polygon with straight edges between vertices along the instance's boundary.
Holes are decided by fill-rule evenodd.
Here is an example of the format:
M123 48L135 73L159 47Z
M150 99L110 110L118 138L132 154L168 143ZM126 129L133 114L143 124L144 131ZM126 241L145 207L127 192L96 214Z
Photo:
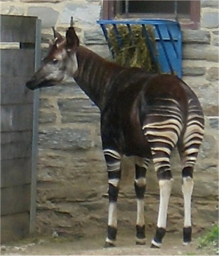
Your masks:
M183 245L191 242L191 195L193 192L193 169L203 140L205 120L200 106L190 101L188 120L181 147L178 148L183 163L182 192L184 199Z

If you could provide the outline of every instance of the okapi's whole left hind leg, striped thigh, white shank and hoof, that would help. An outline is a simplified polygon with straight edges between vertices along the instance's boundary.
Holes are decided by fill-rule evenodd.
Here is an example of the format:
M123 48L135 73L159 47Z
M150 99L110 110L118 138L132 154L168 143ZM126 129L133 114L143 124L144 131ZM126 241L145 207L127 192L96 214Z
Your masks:
M179 103L172 98L157 98L145 120L143 131L150 144L151 156L160 186L160 205L152 248L160 248L166 232L166 219L173 178L170 155L183 130Z

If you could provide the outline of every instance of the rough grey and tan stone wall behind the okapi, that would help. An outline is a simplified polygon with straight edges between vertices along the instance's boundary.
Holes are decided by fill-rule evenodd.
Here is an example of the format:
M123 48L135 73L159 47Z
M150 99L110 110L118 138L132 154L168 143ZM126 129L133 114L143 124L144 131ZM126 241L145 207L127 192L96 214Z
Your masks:
M96 25L98 0L3 0L1 13L42 19L42 55L52 39L51 26L63 35L74 16L81 43L110 58ZM183 79L200 98L206 115L205 141L195 170L193 223L195 232L218 218L218 1L201 1L200 29L183 29ZM169 230L183 226L180 161L171 159L175 183L170 200ZM120 227L135 228L133 162L123 161L119 198ZM151 166L145 198L146 227L156 225L158 182ZM39 232L90 235L106 227L108 198L106 165L99 136L99 110L69 79L40 92L37 228Z

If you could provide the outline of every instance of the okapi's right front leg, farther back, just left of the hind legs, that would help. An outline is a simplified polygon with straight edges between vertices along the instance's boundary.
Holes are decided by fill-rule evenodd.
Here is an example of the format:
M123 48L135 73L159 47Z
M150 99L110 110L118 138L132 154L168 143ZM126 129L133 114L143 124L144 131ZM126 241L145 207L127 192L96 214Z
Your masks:
M136 245L145 245L145 205L146 170L150 159L135 157L135 193L137 198Z

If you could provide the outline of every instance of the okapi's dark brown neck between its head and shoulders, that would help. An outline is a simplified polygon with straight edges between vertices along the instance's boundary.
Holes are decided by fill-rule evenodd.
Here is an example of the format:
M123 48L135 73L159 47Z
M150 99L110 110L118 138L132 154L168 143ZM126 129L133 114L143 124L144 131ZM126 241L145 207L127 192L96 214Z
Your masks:
M78 70L74 73L76 83L99 110L103 110L116 75L124 68L106 61L83 46L79 46L76 58L78 59Z

